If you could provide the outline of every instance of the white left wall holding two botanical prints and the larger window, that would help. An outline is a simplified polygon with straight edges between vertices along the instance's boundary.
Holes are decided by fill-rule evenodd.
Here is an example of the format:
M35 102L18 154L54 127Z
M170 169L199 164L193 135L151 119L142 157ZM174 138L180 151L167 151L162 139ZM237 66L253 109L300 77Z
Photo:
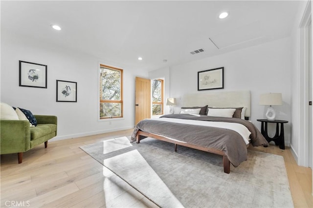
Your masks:
M19 86L19 60L47 65L47 88ZM39 40L1 31L1 102L29 109L33 114L56 115L54 140L134 127L134 80L147 72L124 69L124 118L98 121L98 63L110 62ZM115 65L114 63L111 63ZM56 102L56 80L77 82L77 103Z

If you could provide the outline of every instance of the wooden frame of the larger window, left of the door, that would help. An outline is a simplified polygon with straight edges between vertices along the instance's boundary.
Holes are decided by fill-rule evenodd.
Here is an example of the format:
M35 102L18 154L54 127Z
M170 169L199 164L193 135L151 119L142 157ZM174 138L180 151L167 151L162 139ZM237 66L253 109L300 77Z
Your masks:
M102 100L102 96L101 96L101 92L102 92L102 81L101 81L101 74L100 74L100 70L101 68L106 68L106 69L109 69L109 70L114 70L114 71L119 71L120 74L121 74L121 79L120 79L120 89L121 89L121 92L120 92L120 100ZM113 116L113 117L100 117L100 104L101 103L119 103L121 104L121 114L120 116ZM106 119L120 119L120 118L123 118L123 69L121 68L117 68L117 67L114 67L114 66L109 66L109 65L106 65L106 64L102 64L100 63L99 64L99 110L98 110L98 119L99 121L103 121L103 120L106 120Z

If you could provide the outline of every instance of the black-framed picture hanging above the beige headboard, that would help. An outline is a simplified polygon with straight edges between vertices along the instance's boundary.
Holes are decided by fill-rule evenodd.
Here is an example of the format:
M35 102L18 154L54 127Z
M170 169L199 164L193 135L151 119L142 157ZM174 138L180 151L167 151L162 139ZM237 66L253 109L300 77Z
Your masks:
M198 72L198 91L224 88L224 67Z

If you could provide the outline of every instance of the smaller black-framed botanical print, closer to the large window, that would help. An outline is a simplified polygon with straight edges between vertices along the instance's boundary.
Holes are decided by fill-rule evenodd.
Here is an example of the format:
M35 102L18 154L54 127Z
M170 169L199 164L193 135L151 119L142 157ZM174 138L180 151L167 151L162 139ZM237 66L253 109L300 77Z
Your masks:
M77 83L57 80L57 102L77 102Z

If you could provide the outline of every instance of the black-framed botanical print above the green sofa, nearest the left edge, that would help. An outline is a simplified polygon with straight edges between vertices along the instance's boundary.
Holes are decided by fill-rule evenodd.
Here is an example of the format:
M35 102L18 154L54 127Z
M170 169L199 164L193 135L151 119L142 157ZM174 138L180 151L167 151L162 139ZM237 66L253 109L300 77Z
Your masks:
M47 65L20 61L19 86L47 88Z

